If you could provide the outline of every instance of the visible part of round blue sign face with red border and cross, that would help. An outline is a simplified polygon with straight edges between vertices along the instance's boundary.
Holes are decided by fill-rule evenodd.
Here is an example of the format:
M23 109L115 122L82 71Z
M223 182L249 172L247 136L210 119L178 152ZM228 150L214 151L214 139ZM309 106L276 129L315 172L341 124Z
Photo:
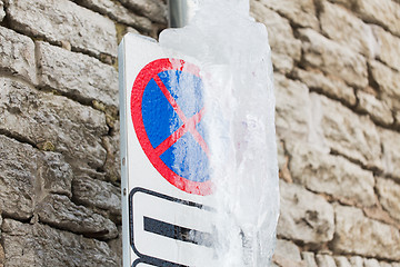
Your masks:
M154 168L174 187L210 195L209 148L200 69L181 59L148 63L134 80L131 116L139 142Z

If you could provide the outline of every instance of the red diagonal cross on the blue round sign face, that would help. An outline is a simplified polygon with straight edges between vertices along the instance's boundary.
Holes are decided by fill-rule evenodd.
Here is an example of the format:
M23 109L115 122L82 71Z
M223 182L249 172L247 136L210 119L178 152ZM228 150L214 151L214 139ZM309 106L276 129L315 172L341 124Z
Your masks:
M173 99L164 83L161 81L160 77L156 75L153 77L154 81L157 82L158 87L162 91L162 93L166 96L168 102L172 106L173 110L178 113L179 118L183 121L183 125L179 127L178 130L176 130L170 137L168 137L166 140L163 140L157 148L156 148L156 155L161 156L164 151L167 151L173 144L176 144L184 134L188 131L193 136L194 140L200 145L200 147L204 150L206 155L209 156L209 148L202 138L202 136L199 134L199 131L196 129L196 125L200 122L203 113L204 108L202 108L198 113L196 113L193 117L188 119L183 111L180 109L177 101Z

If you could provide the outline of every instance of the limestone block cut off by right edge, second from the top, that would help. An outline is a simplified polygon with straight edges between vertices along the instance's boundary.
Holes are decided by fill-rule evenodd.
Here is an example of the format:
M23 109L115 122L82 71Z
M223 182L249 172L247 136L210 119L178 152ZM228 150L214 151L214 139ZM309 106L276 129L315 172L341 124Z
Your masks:
M379 43L378 58L400 71L400 38L377 26L372 30Z

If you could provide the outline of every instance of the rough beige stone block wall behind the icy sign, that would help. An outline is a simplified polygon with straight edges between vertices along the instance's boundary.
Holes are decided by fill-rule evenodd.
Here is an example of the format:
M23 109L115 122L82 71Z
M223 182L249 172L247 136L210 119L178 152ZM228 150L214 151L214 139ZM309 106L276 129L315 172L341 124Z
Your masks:
M400 266L400 1L253 0L274 66L276 266ZM0 266L120 266L117 46L161 0L0 0Z

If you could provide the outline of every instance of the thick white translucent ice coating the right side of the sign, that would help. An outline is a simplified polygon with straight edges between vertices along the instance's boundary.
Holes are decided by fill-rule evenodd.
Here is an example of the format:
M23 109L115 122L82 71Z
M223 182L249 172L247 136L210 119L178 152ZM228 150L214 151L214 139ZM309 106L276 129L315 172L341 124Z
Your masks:
M160 43L201 69L218 266L269 266L279 186L267 30L246 0L202 0L191 23L164 30Z

